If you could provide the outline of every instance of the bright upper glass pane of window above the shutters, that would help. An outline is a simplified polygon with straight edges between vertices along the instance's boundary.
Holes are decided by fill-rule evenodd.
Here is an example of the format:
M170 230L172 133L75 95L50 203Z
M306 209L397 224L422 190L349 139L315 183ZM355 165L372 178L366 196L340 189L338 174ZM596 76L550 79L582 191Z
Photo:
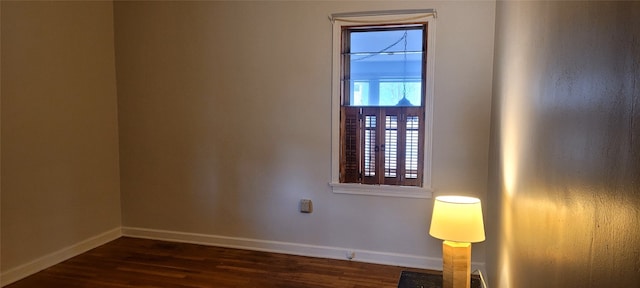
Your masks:
M423 30L350 31L351 106L422 106Z

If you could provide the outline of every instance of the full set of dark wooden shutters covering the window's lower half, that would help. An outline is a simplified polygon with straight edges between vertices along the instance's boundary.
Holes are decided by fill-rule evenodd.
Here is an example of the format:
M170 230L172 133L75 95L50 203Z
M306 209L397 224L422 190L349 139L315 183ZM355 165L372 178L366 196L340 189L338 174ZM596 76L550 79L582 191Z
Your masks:
M340 109L340 182L421 186L424 108Z

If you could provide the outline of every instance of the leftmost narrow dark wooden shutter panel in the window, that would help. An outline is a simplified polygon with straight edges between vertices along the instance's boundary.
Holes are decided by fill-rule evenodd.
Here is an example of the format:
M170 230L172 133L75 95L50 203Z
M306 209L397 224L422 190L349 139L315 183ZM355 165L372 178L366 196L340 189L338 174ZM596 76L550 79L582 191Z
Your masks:
M340 182L360 182L360 109L340 108Z

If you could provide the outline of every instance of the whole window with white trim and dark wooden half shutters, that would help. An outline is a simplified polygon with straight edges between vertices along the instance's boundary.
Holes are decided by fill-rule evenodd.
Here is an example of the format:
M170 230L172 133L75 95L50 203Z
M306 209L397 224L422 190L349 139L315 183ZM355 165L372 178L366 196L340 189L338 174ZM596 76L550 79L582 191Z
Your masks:
M333 18L331 186L429 197L434 12L388 12Z

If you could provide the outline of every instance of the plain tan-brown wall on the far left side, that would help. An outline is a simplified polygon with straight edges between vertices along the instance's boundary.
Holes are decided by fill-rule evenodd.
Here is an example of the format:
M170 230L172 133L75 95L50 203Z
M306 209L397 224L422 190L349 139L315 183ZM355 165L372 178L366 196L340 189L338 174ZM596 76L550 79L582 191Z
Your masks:
M112 3L1 7L5 272L121 221Z

